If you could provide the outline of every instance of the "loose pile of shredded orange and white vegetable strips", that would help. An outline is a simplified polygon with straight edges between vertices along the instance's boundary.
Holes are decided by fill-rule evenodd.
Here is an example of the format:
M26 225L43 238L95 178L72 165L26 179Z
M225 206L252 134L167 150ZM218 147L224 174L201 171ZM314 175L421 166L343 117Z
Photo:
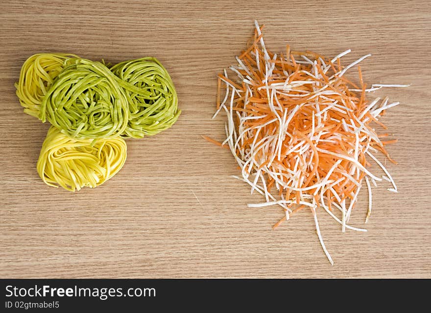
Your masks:
M383 87L408 85L367 87L359 66L359 84L350 81L344 74L370 56L344 67L340 58L350 49L334 58L293 51L288 45L286 54L271 53L265 48L262 28L255 24L253 40L236 58L238 64L230 67L235 78L228 77L226 70L218 75L214 117L220 111L226 113L226 140L220 143L203 137L229 148L241 170L241 177L233 177L248 183L251 193L265 197L265 202L248 207L279 205L284 209L285 216L274 228L309 208L319 241L333 265L316 209L323 208L341 224L343 232L346 228L366 231L347 224L362 187L369 194L365 222L371 213L371 185L386 180L392 185L388 190L397 192L392 176L376 157L382 152L396 164L385 149L396 140L386 139L389 134L378 134L373 127L386 129L379 119L399 102L387 97L368 100L366 95ZM372 173L371 163L383 175Z

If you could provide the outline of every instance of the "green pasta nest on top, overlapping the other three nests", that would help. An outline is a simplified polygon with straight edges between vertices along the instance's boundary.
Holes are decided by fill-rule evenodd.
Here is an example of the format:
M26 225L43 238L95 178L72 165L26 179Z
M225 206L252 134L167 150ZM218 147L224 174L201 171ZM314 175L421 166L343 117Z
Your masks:
M100 62L69 59L45 95L39 118L73 138L118 136L129 109L116 76Z

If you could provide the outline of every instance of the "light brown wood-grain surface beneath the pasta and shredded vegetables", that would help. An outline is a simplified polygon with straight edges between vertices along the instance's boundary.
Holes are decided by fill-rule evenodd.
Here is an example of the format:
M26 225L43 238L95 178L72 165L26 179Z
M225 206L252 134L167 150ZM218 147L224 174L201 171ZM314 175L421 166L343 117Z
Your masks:
M430 1L2 1L0 10L0 277L431 277ZM250 1L246 1L250 2ZM307 3L304 3L307 2ZM295 3L295 4L293 4ZM384 122L399 193L375 189L368 233L348 231L319 211L335 260L327 261L311 212L276 231L278 207L230 178L215 109L216 73L233 64L265 24L273 51L311 49L362 63L368 83L402 104ZM71 52L118 62L155 56L171 73L183 113L168 131L128 140L128 159L97 189L69 193L36 171L48 123L25 115L15 96L24 60ZM362 227L366 194L351 219Z

